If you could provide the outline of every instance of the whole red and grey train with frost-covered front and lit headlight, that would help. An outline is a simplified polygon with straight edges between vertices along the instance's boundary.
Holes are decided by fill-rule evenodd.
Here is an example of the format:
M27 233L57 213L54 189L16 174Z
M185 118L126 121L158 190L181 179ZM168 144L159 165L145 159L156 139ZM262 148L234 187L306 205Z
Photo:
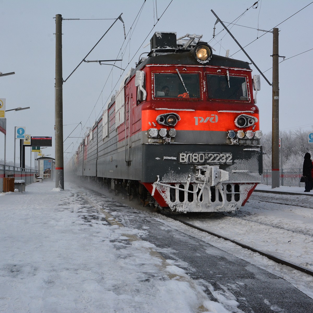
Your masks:
M72 162L77 176L173 212L244 205L262 174L259 76L201 38L153 35L86 132Z

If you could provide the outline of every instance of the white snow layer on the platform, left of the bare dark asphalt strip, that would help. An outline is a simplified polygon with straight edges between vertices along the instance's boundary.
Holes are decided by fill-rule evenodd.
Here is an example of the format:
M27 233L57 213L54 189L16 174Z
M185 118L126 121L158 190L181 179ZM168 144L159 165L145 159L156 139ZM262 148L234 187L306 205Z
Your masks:
M142 229L105 210L84 216L75 188L43 182L0 193L0 312L240 311L236 301L211 301L201 281L140 240Z

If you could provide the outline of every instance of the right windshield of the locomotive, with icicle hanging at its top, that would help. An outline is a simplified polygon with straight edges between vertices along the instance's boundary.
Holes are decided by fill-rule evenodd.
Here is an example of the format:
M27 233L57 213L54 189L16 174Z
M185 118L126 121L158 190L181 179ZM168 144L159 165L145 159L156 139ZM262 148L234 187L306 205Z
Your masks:
M248 100L245 77L207 74L207 84L209 98Z

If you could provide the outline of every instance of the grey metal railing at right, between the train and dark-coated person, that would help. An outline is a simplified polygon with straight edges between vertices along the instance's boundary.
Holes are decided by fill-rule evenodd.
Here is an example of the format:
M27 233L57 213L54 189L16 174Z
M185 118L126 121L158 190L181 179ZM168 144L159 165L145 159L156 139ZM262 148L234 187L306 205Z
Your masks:
M302 176L301 168L287 168L280 171L279 179L280 186L295 186L304 187L304 182L300 182ZM263 170L263 182L264 185L272 184L272 170Z

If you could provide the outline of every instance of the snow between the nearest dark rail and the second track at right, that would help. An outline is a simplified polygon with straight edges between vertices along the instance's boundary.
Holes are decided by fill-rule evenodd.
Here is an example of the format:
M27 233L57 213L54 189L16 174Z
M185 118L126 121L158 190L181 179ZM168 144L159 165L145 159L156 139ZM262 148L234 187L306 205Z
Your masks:
M269 207L269 203L249 200L233 215L247 220L217 216L193 219L192 224L313 270L312 209L280 204ZM277 227L270 226L273 224ZM299 233L301 231L305 234Z

